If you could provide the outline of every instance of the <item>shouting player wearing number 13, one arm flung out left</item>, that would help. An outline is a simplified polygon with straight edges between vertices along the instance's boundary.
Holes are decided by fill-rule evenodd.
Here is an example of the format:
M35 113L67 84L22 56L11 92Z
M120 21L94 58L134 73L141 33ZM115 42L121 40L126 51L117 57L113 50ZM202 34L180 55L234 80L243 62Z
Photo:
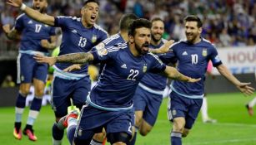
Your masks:
M81 17L52 17L43 15L27 7L22 0L9 0L10 5L20 7L29 17L38 22L43 22L53 27L61 27L63 39L60 46L59 56L74 53L88 52L99 42L108 37L106 31L95 24L98 19L98 1L88 0L83 3ZM68 114L70 98L73 104L82 109L86 96L91 88L88 76L88 64L82 65L81 70L64 72L63 69L72 64L54 65L53 78L53 110L58 123L59 118ZM61 144L63 130L57 128L53 123L53 144Z

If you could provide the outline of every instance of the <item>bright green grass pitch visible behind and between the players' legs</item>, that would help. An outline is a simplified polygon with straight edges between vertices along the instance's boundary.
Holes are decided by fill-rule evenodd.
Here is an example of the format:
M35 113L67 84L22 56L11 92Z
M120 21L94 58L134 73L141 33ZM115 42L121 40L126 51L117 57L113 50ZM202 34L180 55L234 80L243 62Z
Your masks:
M243 94L208 94L209 114L218 119L218 123L202 123L198 116L192 131L183 138L184 145L256 145L256 114L249 117L244 104L252 97ZM163 100L157 123L147 137L138 136L138 145L168 145L171 125L167 118L168 99ZM28 109L23 117L23 127L28 116ZM53 111L44 106L35 123L34 129L38 141L33 143L23 136L21 141L13 138L14 108L0 109L0 144L3 145L51 145ZM65 137L63 145L68 145Z

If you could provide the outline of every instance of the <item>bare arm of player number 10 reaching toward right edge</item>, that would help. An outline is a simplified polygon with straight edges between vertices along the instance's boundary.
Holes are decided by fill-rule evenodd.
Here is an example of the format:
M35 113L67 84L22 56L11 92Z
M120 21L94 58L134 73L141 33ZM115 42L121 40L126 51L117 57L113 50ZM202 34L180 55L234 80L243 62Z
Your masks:
M251 83L242 83L236 77L232 75L232 73L228 70L225 65L217 66L218 72L223 75L226 79L228 79L233 85L235 85L244 95L253 94L254 89L248 85Z

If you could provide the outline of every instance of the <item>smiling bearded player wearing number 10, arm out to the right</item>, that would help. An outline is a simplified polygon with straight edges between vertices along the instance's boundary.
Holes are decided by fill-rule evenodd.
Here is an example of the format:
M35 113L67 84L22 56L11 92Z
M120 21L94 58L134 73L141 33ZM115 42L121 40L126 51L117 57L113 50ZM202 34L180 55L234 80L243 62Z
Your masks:
M208 61L212 60L218 72L235 85L243 94L253 94L250 83L237 80L218 58L218 52L209 41L203 39L202 22L197 16L185 18L185 34L187 40L178 41L172 46L174 55L178 59L178 70L184 75L194 78L203 78L196 83L187 83L174 80L171 84L171 101L168 105L168 117L173 121L173 130L170 134L172 145L181 145L182 137L188 135L203 102L204 75Z

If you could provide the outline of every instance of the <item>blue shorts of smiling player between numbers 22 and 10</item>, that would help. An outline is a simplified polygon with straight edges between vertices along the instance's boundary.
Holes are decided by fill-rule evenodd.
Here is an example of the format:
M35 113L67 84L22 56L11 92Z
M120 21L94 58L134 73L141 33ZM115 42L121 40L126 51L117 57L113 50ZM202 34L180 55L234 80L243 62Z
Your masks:
M158 111L162 100L163 95L149 93L138 86L133 97L133 105L135 111L143 111L143 119L153 126L158 118Z

